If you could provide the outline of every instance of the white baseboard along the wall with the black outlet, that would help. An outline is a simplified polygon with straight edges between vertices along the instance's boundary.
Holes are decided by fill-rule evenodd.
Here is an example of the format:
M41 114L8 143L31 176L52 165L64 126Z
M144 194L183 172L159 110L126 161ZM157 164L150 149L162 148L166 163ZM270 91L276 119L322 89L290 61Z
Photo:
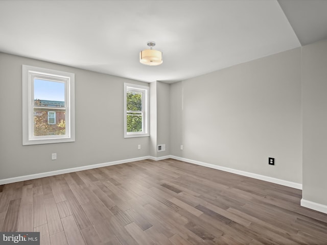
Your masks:
M276 178L272 178L272 177L268 177L268 176L264 176L264 175L253 174L253 173L242 171L242 170L237 170L237 169L233 169L233 168L229 168L229 167L223 167L223 166L219 166L219 165L215 165L215 164L211 164L211 163L195 161L195 160L186 159L186 158L182 158L182 157L170 156L170 158L184 161L184 162L194 163L197 165L210 167L210 168L214 168L214 169L218 169L218 170L222 170L222 171L226 171L226 172L237 174L237 175L251 177L254 179L258 179L258 180L264 180L264 181L268 181L268 182L279 184L279 185L285 185L285 186L292 187L295 189L300 189L300 190L302 189L302 184L287 181L287 180L281 180L281 179L276 179Z

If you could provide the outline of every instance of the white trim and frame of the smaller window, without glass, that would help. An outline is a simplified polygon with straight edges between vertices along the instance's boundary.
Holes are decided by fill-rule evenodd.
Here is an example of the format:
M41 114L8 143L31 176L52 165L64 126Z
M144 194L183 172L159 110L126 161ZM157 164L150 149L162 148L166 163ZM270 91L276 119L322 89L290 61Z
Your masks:
M144 129L142 132L127 132L127 90L129 89L136 89L136 90L143 90L144 91ZM133 138L133 137L147 137L150 136L150 92L149 92L148 86L143 85L137 85L137 84L130 84L130 83L124 83L124 138Z

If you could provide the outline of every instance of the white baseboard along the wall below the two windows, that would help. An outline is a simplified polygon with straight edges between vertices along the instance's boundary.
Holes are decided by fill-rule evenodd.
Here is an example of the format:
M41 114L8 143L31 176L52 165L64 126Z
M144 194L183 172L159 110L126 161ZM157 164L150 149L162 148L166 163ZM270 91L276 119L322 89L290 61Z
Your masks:
M25 180L33 180L33 179L38 179L38 178L43 178L43 177L48 177L48 176L54 176L54 175L67 174L67 173L72 173L72 172L82 171L82 170L87 170L87 169L92 169L92 168L112 166L112 165L122 164L122 163L127 163L127 162L141 161L141 160L146 160L146 159L149 159L149 158L150 158L149 156L137 157L137 158L130 158L130 159L119 160L119 161L112 161L112 162L104 162L104 163L98 163L98 164L93 164L93 165L86 165L86 166L81 166L81 167L73 167L73 168L54 170L54 171L39 173L39 174L34 174L34 175L25 175L25 176L13 177L13 178L0 180L0 185L9 184L9 183L13 183L13 182L19 182L19 181L25 181Z

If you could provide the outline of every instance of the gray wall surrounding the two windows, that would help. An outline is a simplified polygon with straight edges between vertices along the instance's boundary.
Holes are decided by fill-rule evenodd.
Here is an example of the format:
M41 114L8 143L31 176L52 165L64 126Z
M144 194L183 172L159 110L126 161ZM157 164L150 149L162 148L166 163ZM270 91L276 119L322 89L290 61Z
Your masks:
M76 142L22 146L22 64L75 73ZM148 85L0 53L0 179L149 156L149 137L124 138L124 82Z

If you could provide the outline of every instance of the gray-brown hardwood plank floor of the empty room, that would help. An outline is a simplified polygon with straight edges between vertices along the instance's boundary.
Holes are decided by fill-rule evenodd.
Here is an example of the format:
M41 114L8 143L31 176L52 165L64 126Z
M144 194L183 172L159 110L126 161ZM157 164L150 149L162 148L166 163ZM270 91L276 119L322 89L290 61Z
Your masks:
M177 160L138 161L0 186L0 231L40 244L327 244L301 190Z

